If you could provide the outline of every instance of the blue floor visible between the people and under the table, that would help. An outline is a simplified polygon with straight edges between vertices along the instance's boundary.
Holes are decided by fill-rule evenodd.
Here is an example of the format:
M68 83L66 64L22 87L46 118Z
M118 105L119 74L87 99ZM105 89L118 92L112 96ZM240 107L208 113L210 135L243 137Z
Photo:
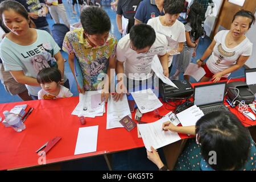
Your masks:
M67 3L67 0L63 0L65 9L67 10L67 15L69 18L69 23L77 23L79 22L80 13L79 13L79 7L76 6L77 14L72 13L72 4ZM108 13L111 19L112 27L110 32L116 36L116 38L119 40L121 38L121 35L118 32L117 25L115 23L115 13L112 9L110 9L109 1L104 0L103 1L103 9ZM47 21L49 23L49 26L52 27L53 20L50 18L49 15L47 15ZM197 59L199 59L205 49L209 46L211 40L206 37L205 39L201 39L199 42L199 47L197 48L196 57L193 58L193 63ZM61 52L64 59L68 60L68 55L65 52ZM174 73L174 69L172 69L172 74ZM69 79L69 83L71 86L71 92L74 94L74 96L78 95L77 88L76 88L76 82L75 78L72 75L71 69L69 68L68 61L65 62L65 74L67 75ZM243 77L244 76L244 68L239 69L238 71L232 73L230 77ZM182 74L179 76L180 79L183 79ZM195 82L193 78L191 78L191 82ZM7 93L3 87L2 84L0 84L0 103L8 103L8 102L17 102L21 101L18 96L11 96L9 93ZM163 159L163 152L162 150L159 150L160 155ZM118 152L112 155L112 165L114 170L156 170L156 166L151 163L147 159L146 155L146 149L139 148L135 150L125 151L125 152ZM106 166L105 159L103 156L97 156L93 158L88 159L82 159L82 160L74 160L72 162L66 162L62 166L63 170L108 170L108 166Z

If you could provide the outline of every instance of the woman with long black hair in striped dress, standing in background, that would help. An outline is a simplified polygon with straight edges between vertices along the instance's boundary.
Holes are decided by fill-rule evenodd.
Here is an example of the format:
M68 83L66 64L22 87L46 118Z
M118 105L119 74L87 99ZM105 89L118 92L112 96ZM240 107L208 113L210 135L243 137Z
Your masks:
M176 68L176 72L171 76L171 80L178 80L180 72L184 73L192 56L196 56L197 44L200 36L203 35L202 21L200 18L203 12L203 6L197 2L194 2L190 9L188 9L187 23L185 24L186 42L181 53L177 55L172 63L174 68ZM184 78L188 80L187 77Z

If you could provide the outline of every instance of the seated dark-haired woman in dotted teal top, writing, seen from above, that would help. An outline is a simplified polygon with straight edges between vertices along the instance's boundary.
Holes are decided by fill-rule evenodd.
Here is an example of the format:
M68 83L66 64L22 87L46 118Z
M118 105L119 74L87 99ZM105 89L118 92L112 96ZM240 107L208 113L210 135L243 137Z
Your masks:
M163 130L196 135L189 139L174 170L253 170L256 148L249 131L229 111L214 111L197 121L196 126L179 127L163 123ZM147 158L160 170L167 170L158 152L151 147ZM232 151L232 152L230 152Z

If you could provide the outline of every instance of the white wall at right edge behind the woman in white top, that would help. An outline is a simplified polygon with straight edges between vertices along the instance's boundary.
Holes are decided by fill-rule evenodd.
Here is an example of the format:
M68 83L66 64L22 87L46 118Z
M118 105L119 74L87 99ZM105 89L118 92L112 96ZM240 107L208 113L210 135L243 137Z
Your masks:
M254 14L256 16L256 13ZM256 68L256 23L253 24L250 30L246 33L247 38L253 43L253 54L246 61L246 65L249 68Z

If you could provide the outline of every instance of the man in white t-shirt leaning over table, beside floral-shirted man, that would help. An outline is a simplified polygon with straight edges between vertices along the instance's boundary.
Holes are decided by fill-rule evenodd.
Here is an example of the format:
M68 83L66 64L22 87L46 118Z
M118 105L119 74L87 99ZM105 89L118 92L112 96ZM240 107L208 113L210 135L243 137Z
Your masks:
M159 56L163 73L168 77L167 45L166 36L155 33L154 29L147 24L133 26L130 34L119 40L116 66L118 86L114 100L122 99L123 93L127 93L128 85L130 86L129 90L141 86L142 81L150 85L154 78L151 64L155 55Z

